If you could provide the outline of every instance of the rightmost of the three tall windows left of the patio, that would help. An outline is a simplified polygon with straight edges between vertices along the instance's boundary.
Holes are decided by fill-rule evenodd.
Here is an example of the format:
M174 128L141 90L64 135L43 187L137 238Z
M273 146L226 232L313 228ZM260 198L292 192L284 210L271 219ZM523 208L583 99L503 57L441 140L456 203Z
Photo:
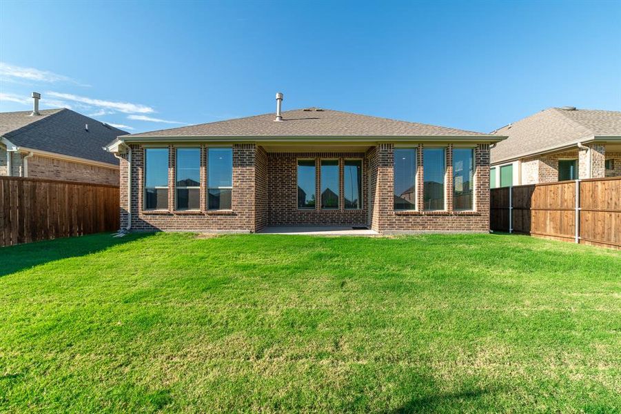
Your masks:
M230 210L232 192L232 148L209 148L207 150L207 208Z

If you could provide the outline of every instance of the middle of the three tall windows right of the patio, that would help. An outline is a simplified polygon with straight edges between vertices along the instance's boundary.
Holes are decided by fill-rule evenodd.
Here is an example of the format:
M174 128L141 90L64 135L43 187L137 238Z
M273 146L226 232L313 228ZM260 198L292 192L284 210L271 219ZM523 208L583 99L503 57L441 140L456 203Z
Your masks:
M444 210L445 148L423 150L423 206L425 210Z

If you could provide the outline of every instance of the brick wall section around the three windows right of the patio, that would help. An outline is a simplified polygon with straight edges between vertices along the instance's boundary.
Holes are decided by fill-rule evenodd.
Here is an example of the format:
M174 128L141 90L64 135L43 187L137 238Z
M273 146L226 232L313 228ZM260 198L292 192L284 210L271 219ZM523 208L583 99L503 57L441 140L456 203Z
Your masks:
M418 145L416 199L423 205L423 148ZM489 145L480 144L475 150L474 210L454 211L452 200L452 149L446 149L445 179L446 211L394 210L394 146L380 144L369 151L371 184L375 186L371 228L381 233L403 231L480 231L489 230Z

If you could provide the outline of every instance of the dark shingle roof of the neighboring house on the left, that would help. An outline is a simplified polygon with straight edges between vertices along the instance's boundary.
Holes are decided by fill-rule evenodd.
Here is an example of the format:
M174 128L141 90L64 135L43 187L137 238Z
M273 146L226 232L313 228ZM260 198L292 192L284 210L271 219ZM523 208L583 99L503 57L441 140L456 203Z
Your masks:
M30 111L1 112L0 135L19 147L119 164L102 147L128 132L69 109L39 112L41 115L35 117L28 116Z

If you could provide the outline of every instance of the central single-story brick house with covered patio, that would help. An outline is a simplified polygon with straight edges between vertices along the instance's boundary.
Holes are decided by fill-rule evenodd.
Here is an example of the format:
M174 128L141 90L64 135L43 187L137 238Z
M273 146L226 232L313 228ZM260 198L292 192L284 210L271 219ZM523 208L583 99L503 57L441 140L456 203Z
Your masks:
M489 229L489 145L503 137L319 108L281 113L276 99L276 117L112 142L123 228Z

